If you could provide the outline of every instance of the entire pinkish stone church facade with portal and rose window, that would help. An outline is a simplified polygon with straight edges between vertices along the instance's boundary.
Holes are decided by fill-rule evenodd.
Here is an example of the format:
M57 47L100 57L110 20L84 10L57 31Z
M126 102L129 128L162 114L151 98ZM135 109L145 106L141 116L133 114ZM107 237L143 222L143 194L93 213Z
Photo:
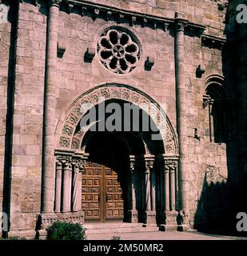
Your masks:
M233 228L247 172L239 3L2 0L3 234L56 219ZM148 129L134 111L129 130L82 123L113 104Z

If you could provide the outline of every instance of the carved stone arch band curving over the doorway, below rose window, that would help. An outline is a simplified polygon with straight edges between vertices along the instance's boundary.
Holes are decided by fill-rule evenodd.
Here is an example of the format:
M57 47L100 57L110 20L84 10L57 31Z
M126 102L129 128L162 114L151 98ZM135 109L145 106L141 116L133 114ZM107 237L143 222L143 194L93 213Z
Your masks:
M78 123L92 106L110 99L122 99L131 102L145 110L158 127L161 139L164 143L165 154L177 155L177 137L169 118L161 108L147 95L130 86L124 85L103 85L82 94L66 111L63 123L58 130L58 149L80 150L82 139L86 134L85 130L76 130ZM62 127L61 127L62 126Z

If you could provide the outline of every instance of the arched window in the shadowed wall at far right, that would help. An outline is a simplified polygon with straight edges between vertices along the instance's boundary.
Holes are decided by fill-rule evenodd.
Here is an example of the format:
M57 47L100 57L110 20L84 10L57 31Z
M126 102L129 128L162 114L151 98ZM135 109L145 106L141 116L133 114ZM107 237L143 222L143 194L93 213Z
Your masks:
M206 112L205 135L210 142L221 143L236 134L235 101L230 86L220 76L206 80L203 107Z

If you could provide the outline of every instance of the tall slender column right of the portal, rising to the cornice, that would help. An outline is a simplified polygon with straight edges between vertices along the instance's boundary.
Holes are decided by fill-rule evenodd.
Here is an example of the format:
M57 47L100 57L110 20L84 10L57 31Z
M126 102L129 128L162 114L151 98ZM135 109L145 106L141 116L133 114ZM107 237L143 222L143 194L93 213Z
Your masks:
M180 197L181 210L188 214L186 156L188 133L186 123L186 81L185 81L185 35L184 29L188 21L175 18L175 71L177 97L177 134L179 143Z

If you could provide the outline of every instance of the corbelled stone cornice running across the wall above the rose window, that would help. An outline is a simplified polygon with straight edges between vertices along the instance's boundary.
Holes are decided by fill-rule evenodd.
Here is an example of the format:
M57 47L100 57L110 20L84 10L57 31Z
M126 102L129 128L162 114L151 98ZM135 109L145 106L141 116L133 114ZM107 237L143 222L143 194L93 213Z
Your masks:
M19 0L24 2L25 0ZM33 0L34 5L38 5L42 0ZM189 36L199 36L201 38L201 45L209 48L222 49L226 38L219 38L213 35L204 34L206 26L189 22L189 20L183 18L165 18L152 14L145 14L141 12L122 10L118 7L107 6L103 4L96 4L84 0L49 0L53 5L62 6L62 10L67 12L73 12L73 10L79 10L82 16L90 16L94 20L96 18L104 18L106 21L114 20L118 24L129 20L129 26L140 25L149 26L153 30L159 28L166 30L184 31Z

